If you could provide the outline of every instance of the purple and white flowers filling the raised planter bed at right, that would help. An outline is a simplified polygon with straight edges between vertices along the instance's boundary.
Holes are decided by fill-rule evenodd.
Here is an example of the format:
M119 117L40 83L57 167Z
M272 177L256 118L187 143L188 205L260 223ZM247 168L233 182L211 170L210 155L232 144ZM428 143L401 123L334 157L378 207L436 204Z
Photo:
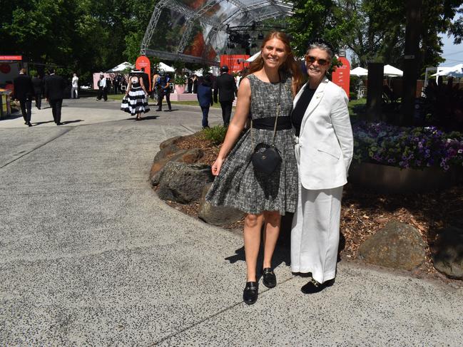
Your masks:
M354 160L400 168L463 166L463 134L435 127L401 128L359 122L353 127Z

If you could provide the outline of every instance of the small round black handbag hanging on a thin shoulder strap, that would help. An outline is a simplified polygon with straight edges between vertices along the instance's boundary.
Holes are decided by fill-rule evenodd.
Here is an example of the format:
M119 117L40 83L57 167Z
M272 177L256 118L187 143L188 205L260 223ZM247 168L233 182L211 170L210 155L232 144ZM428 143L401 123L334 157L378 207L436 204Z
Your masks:
M275 147L275 135L277 133L277 121L278 115L280 115L280 103L281 103L281 83L280 83L280 95L277 104L277 116L275 117L275 125L273 127L273 139L272 143L258 143L254 147L253 138L253 119L251 118L251 145L254 147L253 154L251 155L251 161L255 170L262 172L264 175L270 175L278 167L281 162L280 151Z

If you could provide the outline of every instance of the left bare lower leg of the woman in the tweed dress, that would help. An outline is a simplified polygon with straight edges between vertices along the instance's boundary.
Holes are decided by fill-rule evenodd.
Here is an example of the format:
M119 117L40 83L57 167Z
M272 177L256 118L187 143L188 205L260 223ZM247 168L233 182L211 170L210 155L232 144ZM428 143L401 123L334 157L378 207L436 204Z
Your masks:
M260 228L263 223L263 214L247 214L245 217L244 239L247 281L256 281L256 267L260 248Z

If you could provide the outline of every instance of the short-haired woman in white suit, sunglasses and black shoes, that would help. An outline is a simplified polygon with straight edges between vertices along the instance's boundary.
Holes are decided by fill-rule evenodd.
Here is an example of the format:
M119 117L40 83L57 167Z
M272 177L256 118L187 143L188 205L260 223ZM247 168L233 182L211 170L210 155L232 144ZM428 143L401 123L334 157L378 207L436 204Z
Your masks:
M334 283L342 187L353 152L347 95L325 76L331 61L332 49L325 41L310 43L305 55L309 78L295 96L291 115L299 173L291 270L312 273L301 288L305 294Z

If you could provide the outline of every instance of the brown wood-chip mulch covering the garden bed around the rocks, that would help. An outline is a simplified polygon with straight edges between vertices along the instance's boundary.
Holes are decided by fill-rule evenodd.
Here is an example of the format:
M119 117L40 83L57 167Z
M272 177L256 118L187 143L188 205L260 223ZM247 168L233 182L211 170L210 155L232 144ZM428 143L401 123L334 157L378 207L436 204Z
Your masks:
M212 145L208 140L195 136L183 138L177 146L184 149L200 148L205 153L200 162L208 165L212 165L220 149L220 146ZM191 217L198 217L198 202L193 204L168 202L168 204ZM391 219L416 227L428 245L426 261L412 271L412 276L462 285L463 281L447 279L434 269L431 250L439 229L449 225L463 227L463 185L425 194L379 195L347 184L342 197L341 259L359 261L357 255L360 244ZM242 230L243 221L225 228Z

